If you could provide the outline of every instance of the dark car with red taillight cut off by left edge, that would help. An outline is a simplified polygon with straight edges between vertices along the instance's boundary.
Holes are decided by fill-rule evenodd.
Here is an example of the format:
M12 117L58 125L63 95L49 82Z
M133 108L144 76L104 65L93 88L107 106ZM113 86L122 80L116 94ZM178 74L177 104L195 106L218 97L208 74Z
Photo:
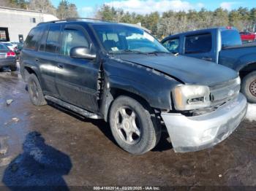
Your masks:
M11 71L16 71L15 52L12 52L4 43L0 42L0 70L4 67L10 67Z

